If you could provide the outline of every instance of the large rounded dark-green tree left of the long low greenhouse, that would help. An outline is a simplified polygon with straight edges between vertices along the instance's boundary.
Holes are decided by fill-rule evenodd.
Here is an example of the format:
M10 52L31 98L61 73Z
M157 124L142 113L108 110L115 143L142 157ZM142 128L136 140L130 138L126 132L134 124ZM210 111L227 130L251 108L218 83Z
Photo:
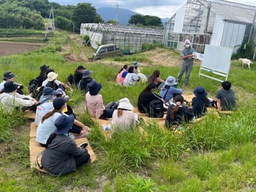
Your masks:
M75 26L79 28L81 23L104 22L101 16L96 13L96 9L91 6L91 3L78 3L74 9L72 20L75 22Z

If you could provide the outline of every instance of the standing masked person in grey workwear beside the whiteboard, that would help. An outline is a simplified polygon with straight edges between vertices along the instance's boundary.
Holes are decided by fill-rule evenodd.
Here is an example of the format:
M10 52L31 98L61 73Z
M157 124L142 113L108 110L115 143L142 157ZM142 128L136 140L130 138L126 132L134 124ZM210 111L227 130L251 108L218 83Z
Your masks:
M186 39L184 41L184 44L185 44L185 47L181 50L181 58L183 59L183 62L181 63L181 71L179 71L177 83L181 81L183 73L186 72L186 77L183 82L183 86L186 86L187 81L189 81L189 75L193 69L194 58L192 53L193 51L195 51L195 49L191 47L189 39Z

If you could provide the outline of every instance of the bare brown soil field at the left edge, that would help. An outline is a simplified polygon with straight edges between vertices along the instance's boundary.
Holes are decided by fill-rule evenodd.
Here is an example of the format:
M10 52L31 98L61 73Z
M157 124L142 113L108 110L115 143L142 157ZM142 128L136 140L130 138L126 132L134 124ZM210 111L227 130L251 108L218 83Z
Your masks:
M0 55L14 55L19 53L24 53L40 46L41 45L39 44L31 44L31 43L0 42Z

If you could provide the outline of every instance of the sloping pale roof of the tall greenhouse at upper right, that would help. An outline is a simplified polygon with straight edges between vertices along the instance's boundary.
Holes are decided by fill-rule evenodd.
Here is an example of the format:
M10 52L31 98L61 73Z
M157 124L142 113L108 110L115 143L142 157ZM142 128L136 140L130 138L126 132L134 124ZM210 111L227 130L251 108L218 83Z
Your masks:
M205 7L211 3L211 11L223 20L237 23L253 23L256 7L223 0L199 0Z

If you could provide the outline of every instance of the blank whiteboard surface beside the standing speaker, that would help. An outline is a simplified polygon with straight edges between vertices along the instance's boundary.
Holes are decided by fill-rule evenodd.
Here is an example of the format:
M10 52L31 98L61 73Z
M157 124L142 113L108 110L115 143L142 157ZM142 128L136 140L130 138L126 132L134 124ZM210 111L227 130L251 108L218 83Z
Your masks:
M213 71L220 71L228 74L232 53L233 49L231 48L205 45L205 53L201 67L207 67Z

